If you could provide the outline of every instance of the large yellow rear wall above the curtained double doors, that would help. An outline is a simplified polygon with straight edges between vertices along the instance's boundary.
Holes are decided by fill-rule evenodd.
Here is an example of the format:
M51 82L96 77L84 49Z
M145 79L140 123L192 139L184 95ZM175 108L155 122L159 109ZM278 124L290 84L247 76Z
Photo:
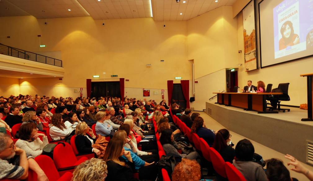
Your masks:
M33 16L0 17L0 24L6 25L0 29L0 37L11 36L1 43L37 52L37 35L41 35L41 44L46 47L40 51L62 51L62 86L34 79L36 86L72 95L70 88L84 88L86 79L103 76L103 72L105 79L112 74L129 79L125 87L133 88L162 89L174 77L192 79L186 21L169 21L166 28L152 18L105 20L105 26L92 17L49 19L48 25L44 21ZM33 90L30 85L21 87Z

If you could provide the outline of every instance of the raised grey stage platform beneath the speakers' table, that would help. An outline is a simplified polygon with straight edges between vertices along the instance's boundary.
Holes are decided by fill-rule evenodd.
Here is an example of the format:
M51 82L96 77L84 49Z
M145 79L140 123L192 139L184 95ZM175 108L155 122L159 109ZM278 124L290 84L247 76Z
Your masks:
M282 108L290 108L290 112L258 114L212 101L206 102L205 112L227 129L307 163L307 143L313 142L313 121L301 121L307 118L306 110Z

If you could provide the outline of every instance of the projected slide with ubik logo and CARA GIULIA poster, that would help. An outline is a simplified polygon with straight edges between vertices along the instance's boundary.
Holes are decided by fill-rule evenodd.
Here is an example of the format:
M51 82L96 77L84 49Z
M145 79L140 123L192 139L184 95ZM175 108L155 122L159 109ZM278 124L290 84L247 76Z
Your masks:
M285 0L273 9L275 59L306 50L308 0ZM311 10L312 11L312 10Z

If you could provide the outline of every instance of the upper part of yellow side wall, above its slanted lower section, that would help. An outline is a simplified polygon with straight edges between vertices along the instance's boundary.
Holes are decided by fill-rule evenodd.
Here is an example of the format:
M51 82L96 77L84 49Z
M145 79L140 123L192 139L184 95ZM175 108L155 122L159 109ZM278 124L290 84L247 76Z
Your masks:
M195 79L238 64L236 23L231 6L187 21L188 59L194 60Z

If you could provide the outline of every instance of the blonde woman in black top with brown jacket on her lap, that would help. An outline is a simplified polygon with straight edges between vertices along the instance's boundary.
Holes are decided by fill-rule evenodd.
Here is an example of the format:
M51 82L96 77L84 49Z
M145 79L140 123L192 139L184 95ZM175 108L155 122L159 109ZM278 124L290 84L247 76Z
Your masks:
M94 152L96 155L100 155L100 150L92 148L96 141L96 136L85 122L81 122L76 126L75 134L75 145L80 154Z

